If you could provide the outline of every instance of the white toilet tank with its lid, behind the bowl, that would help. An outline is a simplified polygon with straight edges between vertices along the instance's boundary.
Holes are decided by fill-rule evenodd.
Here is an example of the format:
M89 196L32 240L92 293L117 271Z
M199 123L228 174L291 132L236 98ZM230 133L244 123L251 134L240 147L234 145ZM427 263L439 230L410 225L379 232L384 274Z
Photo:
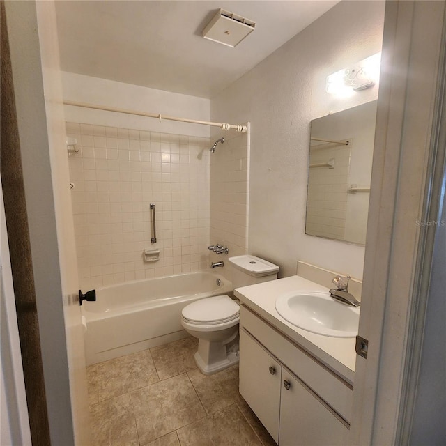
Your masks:
M240 286L261 284L277 279L279 267L274 263L259 259L259 257L244 256L229 257L234 288Z

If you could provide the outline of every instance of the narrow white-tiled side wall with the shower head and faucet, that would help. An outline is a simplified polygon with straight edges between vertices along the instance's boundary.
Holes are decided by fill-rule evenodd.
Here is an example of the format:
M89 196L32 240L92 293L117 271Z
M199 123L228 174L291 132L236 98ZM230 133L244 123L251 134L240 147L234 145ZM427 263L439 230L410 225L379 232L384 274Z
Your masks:
M249 133L221 132L211 144L221 137L224 143L210 156L210 241L237 256L247 253Z

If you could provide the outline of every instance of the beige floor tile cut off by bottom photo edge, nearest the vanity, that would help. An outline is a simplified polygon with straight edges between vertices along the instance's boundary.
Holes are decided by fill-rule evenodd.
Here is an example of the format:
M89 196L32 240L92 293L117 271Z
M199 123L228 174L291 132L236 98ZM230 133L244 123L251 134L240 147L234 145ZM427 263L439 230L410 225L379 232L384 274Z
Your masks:
M177 433L181 446L261 446L236 404L178 429Z

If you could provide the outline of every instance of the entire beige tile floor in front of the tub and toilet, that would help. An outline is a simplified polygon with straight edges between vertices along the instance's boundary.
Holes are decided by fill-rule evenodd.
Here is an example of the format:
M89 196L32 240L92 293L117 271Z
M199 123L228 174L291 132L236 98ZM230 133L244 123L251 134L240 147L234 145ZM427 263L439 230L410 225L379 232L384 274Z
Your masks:
M238 393L238 366L205 376L197 339L87 368L95 446L275 446Z

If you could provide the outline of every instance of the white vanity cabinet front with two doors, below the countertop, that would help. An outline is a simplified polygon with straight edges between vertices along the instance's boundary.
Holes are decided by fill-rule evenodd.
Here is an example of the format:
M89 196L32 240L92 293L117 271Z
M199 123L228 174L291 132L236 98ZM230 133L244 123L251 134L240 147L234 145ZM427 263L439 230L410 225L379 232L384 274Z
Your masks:
M240 307L240 394L279 446L348 444L353 388Z

